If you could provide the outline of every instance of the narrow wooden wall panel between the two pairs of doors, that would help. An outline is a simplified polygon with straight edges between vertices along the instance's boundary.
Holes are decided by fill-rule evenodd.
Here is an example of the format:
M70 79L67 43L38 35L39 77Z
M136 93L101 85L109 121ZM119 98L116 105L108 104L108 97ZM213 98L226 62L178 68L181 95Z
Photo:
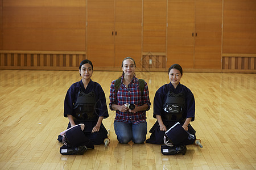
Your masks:
M143 1L143 52L166 53L167 1Z

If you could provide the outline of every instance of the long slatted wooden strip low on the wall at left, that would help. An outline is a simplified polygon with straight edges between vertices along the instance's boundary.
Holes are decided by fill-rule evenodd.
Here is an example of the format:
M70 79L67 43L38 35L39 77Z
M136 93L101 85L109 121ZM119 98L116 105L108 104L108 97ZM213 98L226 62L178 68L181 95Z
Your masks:
M85 53L6 51L0 53L0 69L78 70L83 59Z

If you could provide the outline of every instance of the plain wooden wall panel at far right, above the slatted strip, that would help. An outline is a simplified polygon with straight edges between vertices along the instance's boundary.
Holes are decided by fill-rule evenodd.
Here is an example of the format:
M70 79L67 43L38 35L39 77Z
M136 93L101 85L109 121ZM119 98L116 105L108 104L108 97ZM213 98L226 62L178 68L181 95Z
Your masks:
M255 0L224 0L223 53L256 54L255 17Z

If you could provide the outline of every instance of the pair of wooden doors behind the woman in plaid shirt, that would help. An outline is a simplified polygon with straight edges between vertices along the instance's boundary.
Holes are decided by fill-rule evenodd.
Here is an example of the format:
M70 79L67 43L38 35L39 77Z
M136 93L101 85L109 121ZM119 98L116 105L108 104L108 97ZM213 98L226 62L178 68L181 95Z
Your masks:
M88 59L97 67L121 67L122 59L141 59L142 1L88 0Z

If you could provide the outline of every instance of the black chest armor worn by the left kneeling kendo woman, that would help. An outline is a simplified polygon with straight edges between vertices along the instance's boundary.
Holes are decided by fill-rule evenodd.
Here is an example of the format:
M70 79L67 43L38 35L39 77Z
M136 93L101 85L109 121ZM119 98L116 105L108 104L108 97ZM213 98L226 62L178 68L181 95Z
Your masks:
M78 92L77 100L73 108L73 117L75 120L97 121L98 117L95 112L96 99L94 91L85 94L83 91Z

